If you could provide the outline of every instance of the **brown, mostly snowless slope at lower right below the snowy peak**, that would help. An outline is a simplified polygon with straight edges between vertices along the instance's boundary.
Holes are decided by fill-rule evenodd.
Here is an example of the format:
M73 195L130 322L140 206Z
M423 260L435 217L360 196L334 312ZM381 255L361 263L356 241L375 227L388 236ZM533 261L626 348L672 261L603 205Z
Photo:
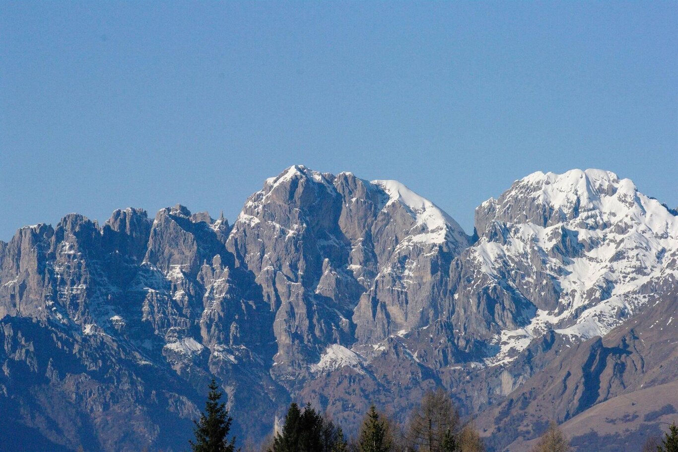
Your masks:
M674 284L643 314L604 338L572 345L554 356L541 373L498 407L481 414L479 425L499 447L508 445L512 437L534 438L545 428L545 420L555 419L567 421L568 434L585 436L574 438L574 444L590 445L595 436L591 430L607 435L607 449L582 446L582 451L635 450L637 442L644 441L642 434L658 432L671 416L678 419L678 393L672 392L678 381L675 319L678 290ZM648 415L661 410L666 411L663 416ZM509 449L524 450L523 441Z

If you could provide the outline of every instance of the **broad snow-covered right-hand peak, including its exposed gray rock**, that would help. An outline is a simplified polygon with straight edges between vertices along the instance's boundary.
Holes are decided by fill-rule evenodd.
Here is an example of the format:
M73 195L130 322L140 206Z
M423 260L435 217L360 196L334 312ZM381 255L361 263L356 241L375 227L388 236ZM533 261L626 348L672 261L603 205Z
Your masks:
M678 277L678 217L612 172L530 174L481 204L476 225L471 255L492 280L535 305L555 287L555 309L502 333L500 360L549 328L605 335Z

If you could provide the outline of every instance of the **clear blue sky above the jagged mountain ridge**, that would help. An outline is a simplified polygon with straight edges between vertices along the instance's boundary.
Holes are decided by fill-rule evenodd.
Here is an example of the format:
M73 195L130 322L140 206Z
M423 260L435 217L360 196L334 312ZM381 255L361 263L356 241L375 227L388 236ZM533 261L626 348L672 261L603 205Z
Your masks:
M0 239L224 210L291 164L394 178L473 229L536 170L678 204L678 3L0 3Z

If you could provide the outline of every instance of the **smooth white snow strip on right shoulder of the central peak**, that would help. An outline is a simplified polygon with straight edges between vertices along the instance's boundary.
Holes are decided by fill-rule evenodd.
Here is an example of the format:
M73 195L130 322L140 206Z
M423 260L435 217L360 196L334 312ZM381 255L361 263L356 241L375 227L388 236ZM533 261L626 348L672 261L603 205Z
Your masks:
M402 183L388 180L372 181L371 183L388 194L388 202L385 207L395 203L401 204L416 220L416 225L424 227L423 233L417 236L417 241L441 244L445 242L449 231L458 242L462 244L468 242L466 234L460 225L452 219L452 216L425 197L414 193Z

